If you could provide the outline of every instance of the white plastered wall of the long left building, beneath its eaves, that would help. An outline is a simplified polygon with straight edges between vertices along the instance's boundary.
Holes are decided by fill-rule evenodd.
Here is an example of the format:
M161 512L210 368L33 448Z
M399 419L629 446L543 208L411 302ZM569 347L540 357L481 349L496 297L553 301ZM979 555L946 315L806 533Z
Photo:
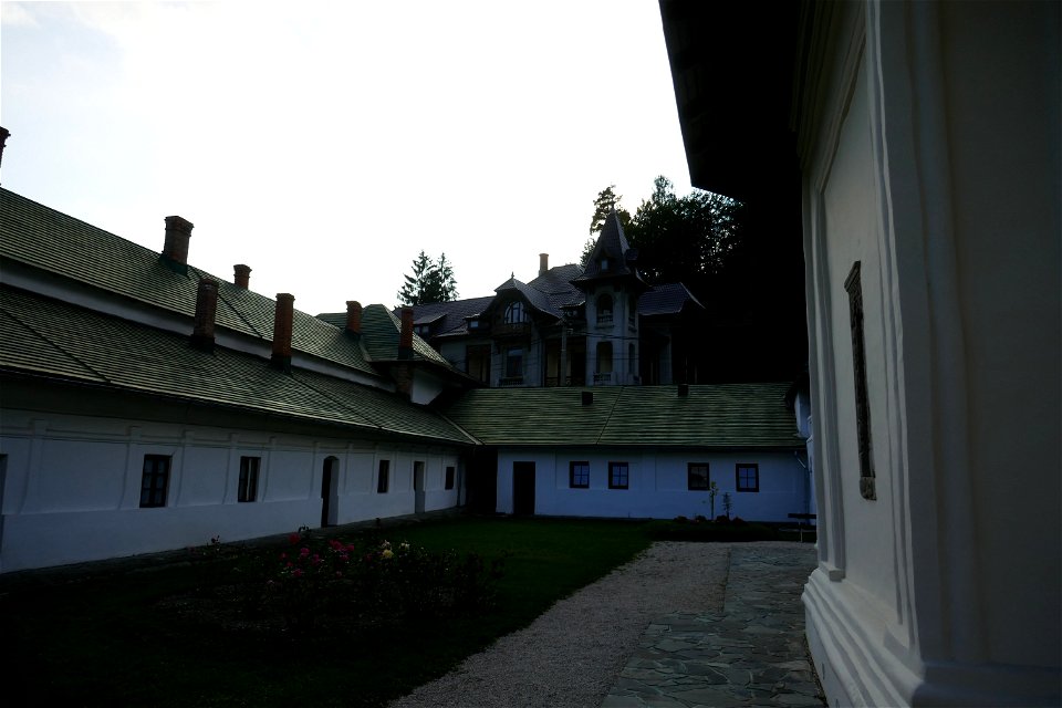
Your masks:
M458 503L444 489L459 450L343 437L279 435L4 409L0 572L240 541L317 527L325 461L335 459L333 523L414 512L412 469L426 462L426 510ZM145 455L171 458L164 508L139 508ZM259 457L258 497L238 502L240 457ZM392 461L376 492L379 459Z

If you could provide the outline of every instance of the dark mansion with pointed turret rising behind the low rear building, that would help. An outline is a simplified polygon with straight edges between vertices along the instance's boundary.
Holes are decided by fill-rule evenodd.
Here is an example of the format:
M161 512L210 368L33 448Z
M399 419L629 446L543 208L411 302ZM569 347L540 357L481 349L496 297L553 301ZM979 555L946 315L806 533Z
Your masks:
M696 355L705 306L681 283L646 283L636 259L613 211L585 269L550 268L542 253L529 283L513 277L493 296L414 306L414 331L492 388L706 381Z

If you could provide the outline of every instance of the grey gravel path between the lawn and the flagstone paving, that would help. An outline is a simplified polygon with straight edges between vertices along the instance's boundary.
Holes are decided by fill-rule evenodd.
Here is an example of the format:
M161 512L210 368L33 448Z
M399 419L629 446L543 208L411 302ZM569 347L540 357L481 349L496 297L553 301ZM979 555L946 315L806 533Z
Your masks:
M654 618L722 608L730 548L662 542L392 708L600 706Z

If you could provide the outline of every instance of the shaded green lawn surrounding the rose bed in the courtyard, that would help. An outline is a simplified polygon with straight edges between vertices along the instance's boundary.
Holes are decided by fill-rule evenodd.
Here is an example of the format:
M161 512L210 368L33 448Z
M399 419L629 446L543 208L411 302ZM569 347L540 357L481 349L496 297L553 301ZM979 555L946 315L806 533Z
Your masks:
M494 607L356 637L240 632L171 610L174 597L232 582L228 552L137 571L18 579L0 595L4 701L382 706L631 560L652 542L645 529L628 521L459 518L378 531L392 542L501 558L503 575Z

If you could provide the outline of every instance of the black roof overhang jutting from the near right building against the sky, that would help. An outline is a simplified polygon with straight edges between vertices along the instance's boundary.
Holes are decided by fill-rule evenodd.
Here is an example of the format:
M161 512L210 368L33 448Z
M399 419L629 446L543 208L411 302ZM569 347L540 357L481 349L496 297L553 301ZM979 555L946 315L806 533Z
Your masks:
M790 116L803 4L660 0L695 187L748 202L792 185L798 163ZM775 180L783 184L774 187Z

